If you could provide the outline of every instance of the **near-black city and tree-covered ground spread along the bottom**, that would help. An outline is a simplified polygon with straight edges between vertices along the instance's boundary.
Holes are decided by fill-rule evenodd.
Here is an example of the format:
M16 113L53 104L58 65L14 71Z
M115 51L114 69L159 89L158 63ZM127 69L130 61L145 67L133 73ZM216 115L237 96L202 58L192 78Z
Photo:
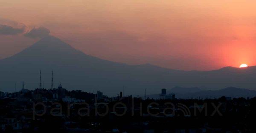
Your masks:
M110 98L100 92L91 94L62 89L24 89L4 95L0 100L0 130L3 133L256 131L256 97L142 100L140 97Z

